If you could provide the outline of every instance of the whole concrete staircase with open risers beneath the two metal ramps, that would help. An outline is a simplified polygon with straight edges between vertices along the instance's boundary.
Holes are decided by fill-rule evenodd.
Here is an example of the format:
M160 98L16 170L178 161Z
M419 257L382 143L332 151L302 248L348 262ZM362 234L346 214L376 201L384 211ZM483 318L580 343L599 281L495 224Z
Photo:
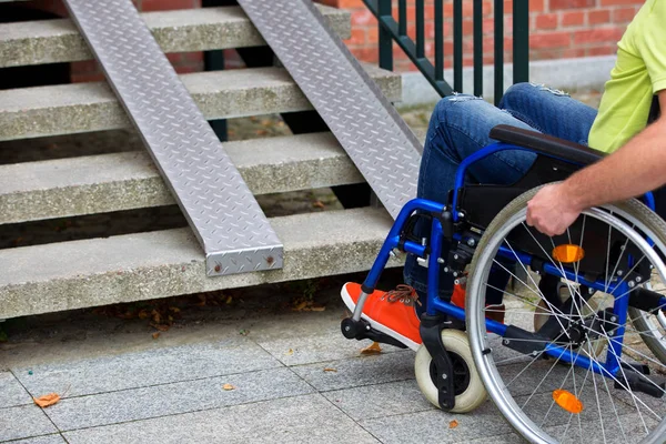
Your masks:
M342 38L346 12L321 7ZM240 8L144 13L165 52L245 48L263 40ZM91 59L69 20L0 24L0 67ZM401 99L400 77L366 67L384 94ZM183 74L206 119L310 110L281 68ZM20 140L110 131L130 125L104 82L0 91L0 157ZM9 142L11 141L11 142ZM100 151L0 164L2 224L170 205L167 190L137 138ZM256 194L360 183L362 175L330 133L224 144ZM284 268L206 278L190 229L0 250L0 319L367 270L391 218L356 209L271 219L284 243ZM397 264L395 262L394 264Z

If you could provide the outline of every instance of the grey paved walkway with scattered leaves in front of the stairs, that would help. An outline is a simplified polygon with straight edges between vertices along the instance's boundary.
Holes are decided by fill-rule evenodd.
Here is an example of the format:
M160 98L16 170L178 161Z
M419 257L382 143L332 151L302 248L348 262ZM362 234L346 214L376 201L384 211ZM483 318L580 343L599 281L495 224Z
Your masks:
M253 297L279 305L266 292ZM362 355L367 343L341 335L345 311L327 293L323 312L201 307L157 340L145 320L28 320L0 344L0 442L522 442L490 402L468 415L433 408L413 352ZM62 401L32 404L51 392Z

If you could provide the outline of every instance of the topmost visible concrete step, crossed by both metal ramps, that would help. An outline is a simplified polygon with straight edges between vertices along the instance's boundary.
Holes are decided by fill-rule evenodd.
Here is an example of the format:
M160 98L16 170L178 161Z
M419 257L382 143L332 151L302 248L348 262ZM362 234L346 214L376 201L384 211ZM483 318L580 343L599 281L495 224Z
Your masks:
M346 11L319 6L342 39L351 37ZM164 52L264 46L238 7L144 12L141 17ZM77 27L65 19L0 24L0 68L92 59Z

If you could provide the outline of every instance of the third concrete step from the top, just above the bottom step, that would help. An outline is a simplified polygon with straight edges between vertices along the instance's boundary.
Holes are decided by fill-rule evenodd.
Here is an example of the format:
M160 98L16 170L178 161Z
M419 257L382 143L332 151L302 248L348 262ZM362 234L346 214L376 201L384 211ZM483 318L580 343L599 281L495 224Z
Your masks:
M224 148L254 194L363 182L331 133ZM0 165L0 224L174 203L145 151Z

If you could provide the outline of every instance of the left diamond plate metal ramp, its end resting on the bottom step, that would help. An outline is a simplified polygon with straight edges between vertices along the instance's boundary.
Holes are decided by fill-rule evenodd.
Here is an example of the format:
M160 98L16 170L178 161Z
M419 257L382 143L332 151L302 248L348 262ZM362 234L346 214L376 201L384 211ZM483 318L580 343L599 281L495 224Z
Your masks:
M131 0L65 0L206 255L208 275L282 266L282 244Z

